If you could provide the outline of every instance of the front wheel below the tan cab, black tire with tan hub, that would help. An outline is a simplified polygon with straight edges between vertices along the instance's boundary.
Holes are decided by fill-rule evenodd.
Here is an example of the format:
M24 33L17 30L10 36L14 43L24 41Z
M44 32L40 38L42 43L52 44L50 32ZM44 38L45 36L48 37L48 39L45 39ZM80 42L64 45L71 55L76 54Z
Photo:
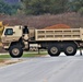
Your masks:
M13 45L10 47L9 54L13 58L20 58L23 55L23 49L19 45Z

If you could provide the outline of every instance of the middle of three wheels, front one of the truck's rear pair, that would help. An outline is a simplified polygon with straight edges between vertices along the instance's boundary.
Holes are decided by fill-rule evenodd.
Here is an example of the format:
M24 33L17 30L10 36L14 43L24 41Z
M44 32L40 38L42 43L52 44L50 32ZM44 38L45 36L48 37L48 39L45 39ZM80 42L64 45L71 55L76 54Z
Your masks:
M57 57L60 55L60 47L58 45L52 45L48 47L48 54L51 57Z

